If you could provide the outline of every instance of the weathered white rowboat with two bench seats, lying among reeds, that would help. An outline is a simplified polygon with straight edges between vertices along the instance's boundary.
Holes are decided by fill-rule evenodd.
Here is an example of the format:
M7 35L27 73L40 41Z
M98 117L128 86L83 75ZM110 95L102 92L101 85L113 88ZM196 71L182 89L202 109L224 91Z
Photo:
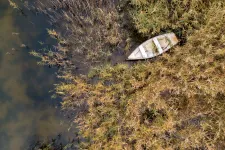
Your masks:
M178 43L174 33L167 33L151 38L138 46L128 60L148 59L158 56Z

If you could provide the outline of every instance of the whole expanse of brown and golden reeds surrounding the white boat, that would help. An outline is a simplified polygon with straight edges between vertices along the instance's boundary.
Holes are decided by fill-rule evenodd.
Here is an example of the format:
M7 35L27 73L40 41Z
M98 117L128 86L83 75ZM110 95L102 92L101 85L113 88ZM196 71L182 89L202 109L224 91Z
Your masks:
M61 68L56 93L76 112L80 148L225 149L224 1L39 0L36 8L51 18L59 44L32 54ZM75 75L80 56L103 62L132 38L124 15L143 37L174 31L185 43L154 60Z

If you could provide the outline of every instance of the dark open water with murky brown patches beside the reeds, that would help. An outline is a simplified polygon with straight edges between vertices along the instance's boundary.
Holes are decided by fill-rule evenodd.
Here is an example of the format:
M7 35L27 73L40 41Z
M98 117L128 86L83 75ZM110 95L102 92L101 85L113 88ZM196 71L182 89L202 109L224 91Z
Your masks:
M0 0L1 150L25 149L37 139L68 135L60 100L51 99L49 93L57 80L55 70L38 66L37 59L28 54L52 44L46 28L50 27L43 16L24 17L7 0Z

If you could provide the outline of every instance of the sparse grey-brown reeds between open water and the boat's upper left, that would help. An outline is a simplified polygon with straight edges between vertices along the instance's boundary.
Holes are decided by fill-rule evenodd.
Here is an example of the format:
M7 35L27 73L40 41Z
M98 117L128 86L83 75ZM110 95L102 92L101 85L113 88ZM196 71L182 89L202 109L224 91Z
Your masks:
M122 41L116 4L115 0L38 0L33 7L49 17L54 30L48 33L59 41L59 51L93 63L108 59Z

